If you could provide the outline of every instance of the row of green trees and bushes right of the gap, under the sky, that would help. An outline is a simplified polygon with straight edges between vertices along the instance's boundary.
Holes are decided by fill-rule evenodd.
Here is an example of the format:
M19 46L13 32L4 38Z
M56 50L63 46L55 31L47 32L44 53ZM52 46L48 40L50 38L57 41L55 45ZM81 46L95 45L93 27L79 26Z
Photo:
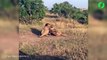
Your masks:
M73 18L78 20L80 23L88 23L88 11L73 7L67 1L60 4L55 3L51 9L51 12L65 18Z

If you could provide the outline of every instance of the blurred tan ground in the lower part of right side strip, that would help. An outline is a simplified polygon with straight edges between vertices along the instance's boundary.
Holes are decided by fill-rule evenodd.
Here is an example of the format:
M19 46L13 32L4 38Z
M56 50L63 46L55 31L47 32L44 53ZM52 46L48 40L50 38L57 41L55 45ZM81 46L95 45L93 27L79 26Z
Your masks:
M107 60L106 21L99 21L89 16L89 22L89 60Z

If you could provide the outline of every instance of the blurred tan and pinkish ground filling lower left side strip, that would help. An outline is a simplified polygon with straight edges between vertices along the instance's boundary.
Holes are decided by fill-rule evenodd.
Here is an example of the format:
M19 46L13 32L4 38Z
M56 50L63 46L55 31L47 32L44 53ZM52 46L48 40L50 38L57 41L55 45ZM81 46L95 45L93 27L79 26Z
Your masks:
M16 25L14 20L0 18L0 60L18 60L19 37Z

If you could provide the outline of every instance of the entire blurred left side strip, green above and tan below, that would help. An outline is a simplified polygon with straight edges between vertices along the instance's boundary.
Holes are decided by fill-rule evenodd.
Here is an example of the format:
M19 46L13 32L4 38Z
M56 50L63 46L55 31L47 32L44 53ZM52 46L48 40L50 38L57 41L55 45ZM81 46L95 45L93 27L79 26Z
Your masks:
M18 0L0 0L0 60L18 60Z

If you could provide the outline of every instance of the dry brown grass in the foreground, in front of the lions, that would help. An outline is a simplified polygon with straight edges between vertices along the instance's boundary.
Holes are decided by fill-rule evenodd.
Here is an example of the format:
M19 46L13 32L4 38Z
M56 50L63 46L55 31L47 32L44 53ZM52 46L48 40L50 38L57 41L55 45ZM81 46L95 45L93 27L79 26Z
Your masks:
M87 34L78 29L65 30L64 33L69 36L59 39L56 39L57 37L48 38L34 45L21 44L20 51L35 57L49 55L59 56L65 60L87 60Z

